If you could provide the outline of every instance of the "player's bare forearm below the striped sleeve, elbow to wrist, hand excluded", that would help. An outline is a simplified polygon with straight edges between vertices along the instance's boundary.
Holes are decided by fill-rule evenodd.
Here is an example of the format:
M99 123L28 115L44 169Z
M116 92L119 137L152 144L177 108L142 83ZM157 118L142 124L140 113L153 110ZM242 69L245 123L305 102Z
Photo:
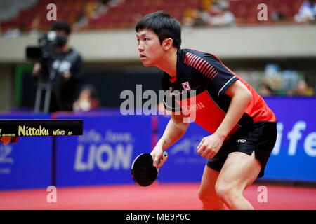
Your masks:
M220 124L214 134L218 134L219 137L225 139L235 127L240 118L242 118L242 115L244 114L244 111L246 110L250 100L250 92L243 90L236 92L236 94L234 94L231 99L230 107L228 108L228 112L226 113L223 122Z

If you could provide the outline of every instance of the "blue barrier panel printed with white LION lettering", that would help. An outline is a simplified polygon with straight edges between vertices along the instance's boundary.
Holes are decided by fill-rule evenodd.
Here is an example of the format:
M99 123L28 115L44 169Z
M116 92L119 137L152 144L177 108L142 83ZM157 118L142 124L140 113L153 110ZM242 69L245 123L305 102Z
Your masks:
M84 135L57 137L56 186L134 183L131 163L150 152L151 117L82 113L58 119L84 119Z

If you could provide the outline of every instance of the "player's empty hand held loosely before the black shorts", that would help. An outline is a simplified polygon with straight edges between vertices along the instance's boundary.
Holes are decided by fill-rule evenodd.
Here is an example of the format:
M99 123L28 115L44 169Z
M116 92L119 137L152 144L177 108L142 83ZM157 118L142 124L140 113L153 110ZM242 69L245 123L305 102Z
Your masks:
M197 146L197 153L202 157L209 159L213 158L223 145L223 138L220 138L217 134L204 137Z

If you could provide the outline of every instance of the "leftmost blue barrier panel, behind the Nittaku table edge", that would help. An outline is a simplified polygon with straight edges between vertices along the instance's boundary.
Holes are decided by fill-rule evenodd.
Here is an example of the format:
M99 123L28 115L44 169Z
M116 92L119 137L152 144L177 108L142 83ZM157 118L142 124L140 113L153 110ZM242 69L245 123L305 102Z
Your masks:
M0 119L50 118L50 114L0 115ZM50 136L20 137L16 144L0 144L0 190L51 186L51 153Z

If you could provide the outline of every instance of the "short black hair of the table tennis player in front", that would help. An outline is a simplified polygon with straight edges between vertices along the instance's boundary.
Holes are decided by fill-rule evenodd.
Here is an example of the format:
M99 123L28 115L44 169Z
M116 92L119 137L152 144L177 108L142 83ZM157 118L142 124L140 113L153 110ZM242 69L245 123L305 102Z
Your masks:
M172 18L164 11L149 13L138 21L136 32L149 29L159 37L160 44L165 38L172 38L173 46L179 48L181 45L181 25L178 20Z

